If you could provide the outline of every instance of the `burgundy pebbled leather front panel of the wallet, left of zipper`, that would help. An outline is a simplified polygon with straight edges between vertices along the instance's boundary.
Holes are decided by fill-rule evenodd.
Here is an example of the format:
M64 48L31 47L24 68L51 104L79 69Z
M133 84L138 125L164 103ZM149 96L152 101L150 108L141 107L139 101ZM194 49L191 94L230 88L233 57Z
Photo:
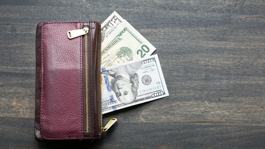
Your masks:
M67 31L81 22L42 25L41 136L44 139L82 139L82 42Z

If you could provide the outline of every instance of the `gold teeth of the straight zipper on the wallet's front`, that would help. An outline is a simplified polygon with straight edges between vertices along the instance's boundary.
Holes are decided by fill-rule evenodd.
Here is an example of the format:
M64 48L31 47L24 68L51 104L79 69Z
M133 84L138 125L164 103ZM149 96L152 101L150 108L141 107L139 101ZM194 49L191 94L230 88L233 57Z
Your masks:
M86 113L86 129L85 131L88 132L89 131L89 113L88 113L88 107L89 107L89 103L88 103L88 93L89 93L89 88L88 88L88 51L87 51L87 34L85 34L85 113Z

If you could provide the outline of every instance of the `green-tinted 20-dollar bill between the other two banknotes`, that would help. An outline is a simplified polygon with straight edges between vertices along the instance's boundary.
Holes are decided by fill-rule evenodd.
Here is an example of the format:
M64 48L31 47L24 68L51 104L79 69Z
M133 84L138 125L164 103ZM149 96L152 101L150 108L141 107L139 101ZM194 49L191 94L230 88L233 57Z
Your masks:
M156 48L126 20L101 44L101 68L150 56Z

